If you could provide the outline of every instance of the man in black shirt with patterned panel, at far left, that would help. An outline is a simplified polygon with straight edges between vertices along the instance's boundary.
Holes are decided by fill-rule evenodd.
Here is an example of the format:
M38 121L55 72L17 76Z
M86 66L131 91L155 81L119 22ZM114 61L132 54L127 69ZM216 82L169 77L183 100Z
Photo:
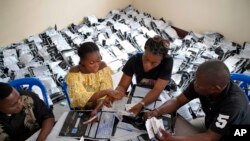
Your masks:
M54 115L28 91L17 91L0 82L0 140L23 141L41 128L37 141L45 141L54 126Z

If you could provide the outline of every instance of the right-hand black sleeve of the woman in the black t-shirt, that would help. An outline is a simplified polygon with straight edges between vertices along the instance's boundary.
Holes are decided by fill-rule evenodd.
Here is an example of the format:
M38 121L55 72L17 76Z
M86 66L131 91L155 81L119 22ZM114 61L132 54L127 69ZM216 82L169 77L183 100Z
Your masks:
M160 79L171 80L173 62L174 61L172 57L164 58L162 60L162 63L159 66L161 68L161 71L159 74Z

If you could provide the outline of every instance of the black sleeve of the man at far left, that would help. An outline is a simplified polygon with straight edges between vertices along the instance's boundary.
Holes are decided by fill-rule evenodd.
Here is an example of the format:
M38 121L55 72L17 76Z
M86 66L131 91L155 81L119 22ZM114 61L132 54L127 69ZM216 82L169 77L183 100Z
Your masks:
M34 115L40 126L45 119L54 118L52 110L48 108L48 106L38 97L37 94L31 92L30 95L34 100Z

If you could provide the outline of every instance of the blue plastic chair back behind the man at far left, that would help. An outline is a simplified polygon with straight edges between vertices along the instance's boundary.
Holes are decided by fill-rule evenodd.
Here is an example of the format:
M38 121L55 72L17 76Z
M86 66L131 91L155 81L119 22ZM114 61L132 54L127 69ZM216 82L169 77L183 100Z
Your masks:
M24 86L28 85L27 90L30 92L32 91L33 86L38 86L42 91L44 103L50 108L46 87L43 85L43 83L39 79L34 78L34 77L19 78L19 79L10 81L9 84L13 86L14 88L16 88L17 90L22 90Z

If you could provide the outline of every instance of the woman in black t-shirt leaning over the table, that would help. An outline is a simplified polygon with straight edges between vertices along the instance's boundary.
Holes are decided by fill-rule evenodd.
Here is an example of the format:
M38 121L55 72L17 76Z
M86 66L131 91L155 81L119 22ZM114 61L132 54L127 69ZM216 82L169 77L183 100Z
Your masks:
M143 100L130 109L130 112L135 115L144 106L157 100L171 80L173 67L173 59L168 55L168 40L156 35L146 41L144 49L143 54L138 53L127 61L122 70L122 78L116 88L121 95L125 95L133 75L136 77L137 84L152 87Z

